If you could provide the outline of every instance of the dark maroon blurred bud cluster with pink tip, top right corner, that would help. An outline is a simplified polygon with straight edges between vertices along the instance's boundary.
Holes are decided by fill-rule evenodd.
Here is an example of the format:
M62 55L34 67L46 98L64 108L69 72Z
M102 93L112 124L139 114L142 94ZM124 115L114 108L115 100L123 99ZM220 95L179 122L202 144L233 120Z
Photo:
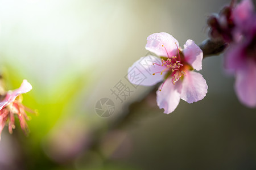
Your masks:
M249 31L254 6L251 0L243 0L236 4L233 0L229 6L221 9L219 14L209 16L209 36L214 40L232 43L240 38L242 33Z

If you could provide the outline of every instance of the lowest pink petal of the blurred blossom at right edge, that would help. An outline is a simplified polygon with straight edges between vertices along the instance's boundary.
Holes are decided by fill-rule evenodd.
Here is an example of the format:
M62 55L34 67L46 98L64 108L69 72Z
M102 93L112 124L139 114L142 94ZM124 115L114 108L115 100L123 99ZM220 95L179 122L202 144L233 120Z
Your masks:
M247 60L247 67L237 70L235 90L241 103L256 107L256 62Z

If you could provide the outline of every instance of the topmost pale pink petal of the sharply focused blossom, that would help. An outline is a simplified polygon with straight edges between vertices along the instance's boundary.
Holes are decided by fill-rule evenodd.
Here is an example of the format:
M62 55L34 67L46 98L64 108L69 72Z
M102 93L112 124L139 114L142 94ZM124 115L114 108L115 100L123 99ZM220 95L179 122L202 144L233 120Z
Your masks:
M145 48L150 52L155 53L157 56L168 57L169 55L172 57L177 54L177 46L175 42L177 46L179 46L179 42L166 32L153 33L147 37L147 44ZM166 49L164 49L162 45L164 45Z

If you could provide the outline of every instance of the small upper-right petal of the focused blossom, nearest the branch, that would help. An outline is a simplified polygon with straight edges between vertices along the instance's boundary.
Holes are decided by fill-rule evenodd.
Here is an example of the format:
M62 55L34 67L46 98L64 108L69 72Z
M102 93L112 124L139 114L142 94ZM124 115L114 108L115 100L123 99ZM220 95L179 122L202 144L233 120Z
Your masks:
M185 60L197 71L202 69L203 51L193 40L187 40L184 44L183 54Z

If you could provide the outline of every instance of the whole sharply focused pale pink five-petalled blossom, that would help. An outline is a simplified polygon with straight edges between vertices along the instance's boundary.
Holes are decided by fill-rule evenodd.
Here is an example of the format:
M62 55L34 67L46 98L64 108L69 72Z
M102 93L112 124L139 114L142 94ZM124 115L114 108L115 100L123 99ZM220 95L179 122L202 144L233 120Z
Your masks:
M152 86L165 79L156 92L156 102L167 114L176 109L180 99L187 103L199 101L205 97L208 89L203 76L192 71L202 69L202 50L192 40L187 40L183 51L178 46L179 42L170 34L154 33L147 37L146 49L161 59L154 56L142 57L128 70L130 72L137 67L145 75L150 73L143 82L138 83L143 86ZM148 65L142 66L143 61ZM130 76L128 78L136 84Z

